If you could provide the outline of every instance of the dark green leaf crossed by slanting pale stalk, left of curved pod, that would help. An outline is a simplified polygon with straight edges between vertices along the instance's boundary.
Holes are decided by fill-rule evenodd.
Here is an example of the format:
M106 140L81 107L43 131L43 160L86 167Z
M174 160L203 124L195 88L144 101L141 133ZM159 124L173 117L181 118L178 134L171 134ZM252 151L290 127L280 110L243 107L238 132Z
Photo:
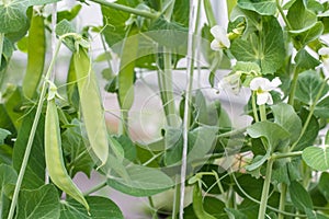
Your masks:
M31 127L34 120L35 111L25 115L13 150L13 168L19 172L25 153ZM42 115L35 131L32 150L30 153L22 188L34 189L45 183L45 155L44 155L44 116Z

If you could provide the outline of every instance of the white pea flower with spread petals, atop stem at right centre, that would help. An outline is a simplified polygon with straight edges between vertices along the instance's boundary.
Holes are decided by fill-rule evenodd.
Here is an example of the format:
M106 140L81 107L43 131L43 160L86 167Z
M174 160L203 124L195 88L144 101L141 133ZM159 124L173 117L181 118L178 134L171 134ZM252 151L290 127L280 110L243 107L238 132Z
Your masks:
M277 89L281 80L276 77L272 81L265 78L254 78L250 82L250 89L257 93L257 104L273 104L273 99L270 91Z

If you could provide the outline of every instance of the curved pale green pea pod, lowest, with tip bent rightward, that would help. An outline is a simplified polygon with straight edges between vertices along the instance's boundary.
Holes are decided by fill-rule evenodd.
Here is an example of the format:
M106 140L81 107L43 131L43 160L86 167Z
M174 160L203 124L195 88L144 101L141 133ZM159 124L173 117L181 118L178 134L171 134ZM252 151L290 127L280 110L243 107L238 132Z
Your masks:
M58 113L55 99L48 101L45 119L45 154L48 174L53 183L66 194L81 203L89 212L89 205L81 191L68 175L64 164Z

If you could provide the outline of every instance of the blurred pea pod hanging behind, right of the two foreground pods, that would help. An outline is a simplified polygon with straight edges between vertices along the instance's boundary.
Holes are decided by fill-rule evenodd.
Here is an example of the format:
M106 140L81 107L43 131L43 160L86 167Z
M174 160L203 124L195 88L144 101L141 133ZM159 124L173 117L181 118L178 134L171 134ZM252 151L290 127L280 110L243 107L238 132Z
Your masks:
M134 102L134 68L138 50L138 28L129 26L123 44L118 72L118 102L122 110L129 110Z

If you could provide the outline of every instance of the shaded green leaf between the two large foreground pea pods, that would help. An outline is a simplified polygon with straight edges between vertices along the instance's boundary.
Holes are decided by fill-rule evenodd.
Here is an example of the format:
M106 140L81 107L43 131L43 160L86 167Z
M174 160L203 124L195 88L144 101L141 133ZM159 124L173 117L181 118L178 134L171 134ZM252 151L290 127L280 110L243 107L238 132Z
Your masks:
M88 176L93 169L94 162L88 153L83 141L81 123L78 119L71 122L71 126L61 134L61 146L69 162L67 163L68 172L71 176L78 172L83 172ZM86 136L87 137L87 136Z

